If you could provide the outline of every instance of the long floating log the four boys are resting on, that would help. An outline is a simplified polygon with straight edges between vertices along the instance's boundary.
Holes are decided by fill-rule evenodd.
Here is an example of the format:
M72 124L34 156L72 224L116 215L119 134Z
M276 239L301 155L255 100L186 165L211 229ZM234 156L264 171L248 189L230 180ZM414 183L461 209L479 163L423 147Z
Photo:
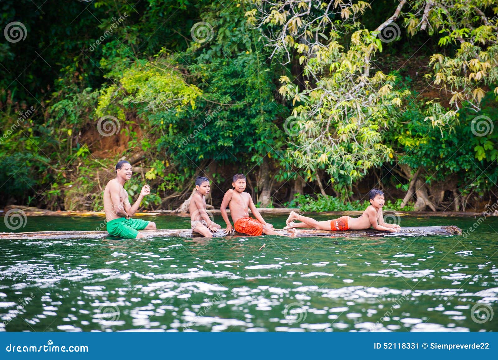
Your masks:
M382 236L428 236L428 235L462 235L462 229L454 225L447 226L413 226L402 227L401 232L393 233L387 231L378 231L374 229L367 230L348 230L348 231L327 231L314 229L293 229L279 230L283 235L294 237L382 237ZM164 230L144 230L141 231L147 237L201 237L198 233L193 233L190 229L164 229ZM21 240L21 239L74 239L74 238L106 238L109 234L107 231L35 231L35 232L1 232L0 239ZM224 231L218 231L213 234L215 237L227 236ZM238 232L230 236L247 236ZM110 237L113 238L113 237Z

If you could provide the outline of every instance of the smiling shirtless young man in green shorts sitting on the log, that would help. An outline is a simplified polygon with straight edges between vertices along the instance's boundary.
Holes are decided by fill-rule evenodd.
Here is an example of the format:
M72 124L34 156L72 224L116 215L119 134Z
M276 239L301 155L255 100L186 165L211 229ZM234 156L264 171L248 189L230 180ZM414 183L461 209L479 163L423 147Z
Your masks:
M116 179L109 181L104 190L104 211L106 212L107 231L110 235L124 239L145 237L138 230L155 230L155 222L132 219L143 197L150 194L149 185L143 185L133 206L123 185L131 179L131 165L127 161L116 164Z

